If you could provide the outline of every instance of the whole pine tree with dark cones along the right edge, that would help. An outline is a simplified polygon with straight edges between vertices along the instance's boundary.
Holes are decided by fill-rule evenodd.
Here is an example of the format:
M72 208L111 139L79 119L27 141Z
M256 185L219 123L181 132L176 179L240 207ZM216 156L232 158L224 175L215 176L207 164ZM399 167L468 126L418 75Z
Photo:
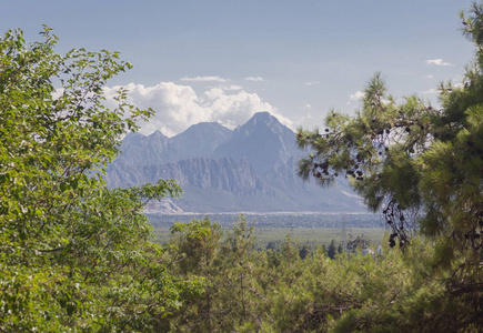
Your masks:
M434 242L427 265L446 294L433 300L441 307L432 320L454 330L483 326L483 4L460 16L475 60L461 84L441 83L441 109L417 95L398 103L376 73L354 117L331 111L322 132L296 134L310 150L300 175L324 186L349 178L384 215L391 248L406 248L416 231Z

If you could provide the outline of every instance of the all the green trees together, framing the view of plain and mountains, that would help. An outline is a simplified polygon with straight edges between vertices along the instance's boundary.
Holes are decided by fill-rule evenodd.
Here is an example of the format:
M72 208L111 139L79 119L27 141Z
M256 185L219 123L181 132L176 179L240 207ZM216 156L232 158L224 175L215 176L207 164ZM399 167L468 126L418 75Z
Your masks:
M390 232L382 251L325 253L290 238L256 249L240 216L174 223L153 241L143 208L172 180L108 189L121 138L153 110L103 87L118 52L56 52L48 27L0 39L0 332L481 332L483 3L461 12L474 44L441 107L396 101L375 73L354 115L300 129L300 176L350 179ZM359 248L359 250L362 250ZM375 249L374 249L375 250ZM328 251L329 252L329 251Z

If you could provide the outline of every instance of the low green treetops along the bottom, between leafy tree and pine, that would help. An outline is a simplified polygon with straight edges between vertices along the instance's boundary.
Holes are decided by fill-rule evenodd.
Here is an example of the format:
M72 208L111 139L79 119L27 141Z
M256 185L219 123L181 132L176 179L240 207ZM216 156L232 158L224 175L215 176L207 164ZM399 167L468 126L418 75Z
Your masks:
M178 223L171 231L173 274L203 276L204 293L165 317L165 330L454 332L459 312L472 311L429 279L434 248L421 240L405 253L385 242L382 255L356 251L331 260L322 248L301 255L290 238L279 251L258 251L253 226L243 219L227 232L209 220ZM442 311L449 305L459 311Z

